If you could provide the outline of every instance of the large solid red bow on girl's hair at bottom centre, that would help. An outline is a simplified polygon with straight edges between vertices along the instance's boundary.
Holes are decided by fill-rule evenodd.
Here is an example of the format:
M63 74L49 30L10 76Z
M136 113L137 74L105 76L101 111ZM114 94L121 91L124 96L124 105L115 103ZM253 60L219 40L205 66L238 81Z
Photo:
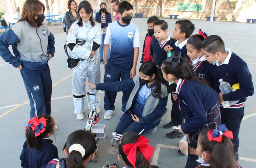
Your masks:
M150 160L154 152L154 148L148 145L148 143L150 143L148 138L141 135L136 143L128 143L123 145L124 153L127 154L127 159L133 165L134 168L136 162L137 147L139 147L139 151L147 159L147 161Z

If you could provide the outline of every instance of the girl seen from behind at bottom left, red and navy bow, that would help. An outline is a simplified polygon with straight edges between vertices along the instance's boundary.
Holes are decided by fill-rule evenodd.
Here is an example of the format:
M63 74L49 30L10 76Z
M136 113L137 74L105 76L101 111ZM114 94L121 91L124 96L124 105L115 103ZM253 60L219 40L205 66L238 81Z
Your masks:
M46 168L52 159L58 158L58 149L49 139L55 132L54 119L49 115L35 116L25 129L27 141L20 155L21 167Z

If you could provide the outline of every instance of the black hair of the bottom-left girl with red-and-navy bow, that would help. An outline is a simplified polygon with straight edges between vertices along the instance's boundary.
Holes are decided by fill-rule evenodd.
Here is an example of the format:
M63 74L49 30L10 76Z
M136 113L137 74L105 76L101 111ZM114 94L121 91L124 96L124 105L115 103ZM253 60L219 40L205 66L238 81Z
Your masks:
M44 117L47 119L46 121L46 127L43 133L35 136L35 132L32 130L31 126L27 128L26 130L26 138L29 149L33 149L35 147L38 151L40 150L40 139L42 138L48 138L47 135L52 132L53 126L54 126L54 120L50 115L41 115L38 117L38 119Z

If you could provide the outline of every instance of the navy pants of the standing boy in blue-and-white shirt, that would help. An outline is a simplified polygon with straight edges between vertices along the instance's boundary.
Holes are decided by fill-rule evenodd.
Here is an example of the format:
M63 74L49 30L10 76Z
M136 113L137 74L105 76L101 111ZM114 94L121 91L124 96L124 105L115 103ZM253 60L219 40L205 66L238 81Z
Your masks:
M116 68L112 67L109 64L105 65L105 74L104 74L104 82L116 82L121 80L126 80L130 78L130 72L118 71ZM122 111L124 111L127 101L131 91L123 92L122 97ZM105 91L104 97L104 109L105 110L115 110L115 101L117 97L117 92L109 92Z

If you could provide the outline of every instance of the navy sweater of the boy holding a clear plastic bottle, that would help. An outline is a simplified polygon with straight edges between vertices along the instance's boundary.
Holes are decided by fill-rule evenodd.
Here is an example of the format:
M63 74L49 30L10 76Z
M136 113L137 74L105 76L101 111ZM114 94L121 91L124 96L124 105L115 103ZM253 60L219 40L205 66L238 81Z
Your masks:
M213 65L207 62L206 78L212 84L212 88L219 93L219 79L228 82L231 86L239 83L240 89L228 94L223 94L224 101L237 101L240 104L246 101L246 97L252 96L254 87L246 62L244 62L238 55L232 52L228 64L220 66ZM243 106L243 104L241 105ZM232 107L232 105L231 105Z

